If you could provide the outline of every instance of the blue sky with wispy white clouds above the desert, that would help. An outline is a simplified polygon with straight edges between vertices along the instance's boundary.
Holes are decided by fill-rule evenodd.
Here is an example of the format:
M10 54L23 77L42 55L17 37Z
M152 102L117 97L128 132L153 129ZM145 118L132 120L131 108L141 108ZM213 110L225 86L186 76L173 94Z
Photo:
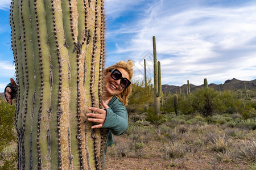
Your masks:
M10 1L0 0L0 92L15 76ZM135 78L152 77L156 37L162 84L256 79L256 1L106 0L106 66L132 59Z

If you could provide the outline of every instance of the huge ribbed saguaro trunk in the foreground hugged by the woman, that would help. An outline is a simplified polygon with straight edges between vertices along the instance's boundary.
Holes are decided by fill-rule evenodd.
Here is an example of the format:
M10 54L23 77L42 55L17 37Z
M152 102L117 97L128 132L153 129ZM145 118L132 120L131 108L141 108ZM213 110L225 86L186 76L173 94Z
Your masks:
M11 2L18 169L103 169L108 129L85 117L102 108L103 3Z

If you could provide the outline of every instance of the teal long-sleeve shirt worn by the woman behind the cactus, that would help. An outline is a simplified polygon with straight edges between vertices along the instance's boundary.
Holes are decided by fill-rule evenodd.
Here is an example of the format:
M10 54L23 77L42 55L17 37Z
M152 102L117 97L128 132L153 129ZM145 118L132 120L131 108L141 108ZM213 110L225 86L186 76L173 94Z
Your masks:
M102 128L110 129L107 140L107 145L110 146L113 144L112 134L121 135L127 130L128 114L125 105L115 96L109 101L108 106L109 108L105 109L107 114Z

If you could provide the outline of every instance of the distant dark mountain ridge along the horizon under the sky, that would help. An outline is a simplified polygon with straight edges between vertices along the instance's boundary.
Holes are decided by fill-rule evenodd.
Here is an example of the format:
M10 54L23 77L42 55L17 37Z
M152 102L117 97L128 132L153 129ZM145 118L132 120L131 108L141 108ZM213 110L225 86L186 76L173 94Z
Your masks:
M240 90L244 89L244 85L246 85L247 90L256 90L256 79L251 80L251 81L243 81L243 80L238 80L238 79L231 79L231 80L226 80L224 84L208 84L210 88L213 88L214 90ZM200 86L195 86L194 84L189 83L190 91L193 92L197 88L203 88L204 84ZM183 86L172 86L168 84L163 84L162 85L162 92L171 92L171 93L176 93L176 91L185 90L187 92L187 84L183 84Z

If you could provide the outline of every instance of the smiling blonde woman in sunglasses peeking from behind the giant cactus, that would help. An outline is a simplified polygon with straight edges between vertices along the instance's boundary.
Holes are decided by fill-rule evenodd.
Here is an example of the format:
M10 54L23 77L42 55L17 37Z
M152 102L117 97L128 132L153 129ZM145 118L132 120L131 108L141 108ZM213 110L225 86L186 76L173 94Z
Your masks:
M102 105L105 109L89 108L96 113L87 113L88 121L96 122L95 128L109 128L108 146L113 144L114 135L123 134L128 128L128 114L125 105L128 103L128 97L131 94L131 78L133 77L134 63L131 60L127 62L119 61L104 70L104 98ZM5 96L8 103L12 104L12 99L16 95L15 82L11 79L5 88Z

